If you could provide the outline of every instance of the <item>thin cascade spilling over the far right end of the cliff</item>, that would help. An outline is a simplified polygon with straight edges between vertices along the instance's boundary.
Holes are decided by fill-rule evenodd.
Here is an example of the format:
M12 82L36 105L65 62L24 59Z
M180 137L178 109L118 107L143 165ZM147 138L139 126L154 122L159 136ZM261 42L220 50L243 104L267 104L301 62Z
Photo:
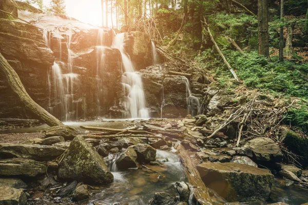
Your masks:
M185 76L181 76L181 77L185 81L185 84L186 84L187 113L191 114L192 116L201 114L199 98L192 95L190 83L187 77Z

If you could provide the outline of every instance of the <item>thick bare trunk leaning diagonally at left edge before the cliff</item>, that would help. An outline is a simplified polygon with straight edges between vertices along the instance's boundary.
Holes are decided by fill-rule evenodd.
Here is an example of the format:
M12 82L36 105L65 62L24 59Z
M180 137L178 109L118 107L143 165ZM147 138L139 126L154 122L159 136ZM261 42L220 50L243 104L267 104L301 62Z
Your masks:
M24 85L22 84L21 79L18 77L18 74L15 70L10 66L8 61L3 57L0 53L0 71L3 73L4 77L6 78L10 88L12 89L13 93L16 94L18 99L24 104L24 106L37 115L41 120L46 122L47 125L50 127L63 125L62 122L52 116L49 112L47 112L44 108L39 106L27 93Z

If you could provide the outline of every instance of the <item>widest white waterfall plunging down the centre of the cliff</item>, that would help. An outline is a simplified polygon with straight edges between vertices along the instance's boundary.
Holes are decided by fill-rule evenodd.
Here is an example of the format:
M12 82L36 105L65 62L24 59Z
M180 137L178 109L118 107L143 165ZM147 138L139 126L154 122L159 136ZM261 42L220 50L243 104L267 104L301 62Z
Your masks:
M114 37L112 47L119 49L122 55L124 67L122 85L127 98L124 105L126 111L131 118L149 118L140 73L134 70L124 50L124 33L119 33Z

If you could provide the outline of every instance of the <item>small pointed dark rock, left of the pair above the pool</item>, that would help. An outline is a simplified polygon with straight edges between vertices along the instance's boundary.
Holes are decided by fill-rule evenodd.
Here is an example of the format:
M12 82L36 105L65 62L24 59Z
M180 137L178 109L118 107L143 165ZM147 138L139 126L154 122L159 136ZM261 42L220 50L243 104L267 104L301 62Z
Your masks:
M137 167L137 153L133 150L133 147L127 148L117 161L119 169L128 169Z

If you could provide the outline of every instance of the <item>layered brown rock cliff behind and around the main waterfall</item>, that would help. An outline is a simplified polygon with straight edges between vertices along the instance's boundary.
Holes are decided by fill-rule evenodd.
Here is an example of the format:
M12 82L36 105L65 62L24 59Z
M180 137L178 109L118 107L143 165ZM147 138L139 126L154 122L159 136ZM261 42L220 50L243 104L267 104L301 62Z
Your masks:
M115 32L17 4L18 17L33 25L1 18L0 52L29 95L61 120L127 117L125 100L130 96L123 88L121 53L112 46ZM145 33L124 34L125 53L142 76L149 116L203 113L211 96L206 94L206 77L193 71L182 76L172 73L179 69L166 65L150 66L151 46ZM4 77L1 79L0 118L33 117L11 94Z

